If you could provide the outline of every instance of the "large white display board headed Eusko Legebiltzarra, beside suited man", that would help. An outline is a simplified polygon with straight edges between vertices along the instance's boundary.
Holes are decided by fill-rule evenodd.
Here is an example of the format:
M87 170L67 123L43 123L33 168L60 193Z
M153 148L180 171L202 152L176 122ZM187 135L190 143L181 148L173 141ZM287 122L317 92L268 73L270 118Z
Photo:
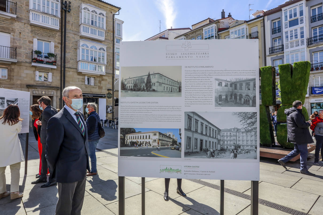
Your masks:
M258 39L121 42L119 98L119 176L259 181Z

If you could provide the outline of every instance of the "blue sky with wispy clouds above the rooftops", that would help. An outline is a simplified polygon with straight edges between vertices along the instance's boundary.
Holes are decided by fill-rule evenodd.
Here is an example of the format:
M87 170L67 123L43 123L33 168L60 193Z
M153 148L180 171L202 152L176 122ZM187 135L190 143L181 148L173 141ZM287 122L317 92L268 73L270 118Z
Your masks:
M208 17L221 18L222 9L227 17L231 13L237 20L249 19L256 10L270 10L288 0L105 0L121 7L120 15L115 17L124 21L123 41L139 41L159 33L159 20L161 31L168 28L192 28Z

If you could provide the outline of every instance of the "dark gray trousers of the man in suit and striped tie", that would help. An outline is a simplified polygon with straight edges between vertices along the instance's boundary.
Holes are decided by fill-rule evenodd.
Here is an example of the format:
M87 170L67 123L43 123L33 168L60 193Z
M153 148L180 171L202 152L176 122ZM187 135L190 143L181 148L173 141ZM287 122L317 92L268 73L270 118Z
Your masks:
M57 183L58 201L55 215L79 215L83 206L86 175L81 181Z

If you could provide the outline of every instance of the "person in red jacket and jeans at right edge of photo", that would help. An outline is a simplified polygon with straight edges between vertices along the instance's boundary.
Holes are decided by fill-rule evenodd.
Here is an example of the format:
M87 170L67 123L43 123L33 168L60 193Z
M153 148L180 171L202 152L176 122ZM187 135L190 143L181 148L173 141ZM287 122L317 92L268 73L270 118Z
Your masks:
M321 151L321 157L323 158L323 110L318 111L318 116L312 119L312 125L309 127L314 132L316 147L315 147L315 159L314 164L319 165L319 154ZM323 163L323 161L320 161Z

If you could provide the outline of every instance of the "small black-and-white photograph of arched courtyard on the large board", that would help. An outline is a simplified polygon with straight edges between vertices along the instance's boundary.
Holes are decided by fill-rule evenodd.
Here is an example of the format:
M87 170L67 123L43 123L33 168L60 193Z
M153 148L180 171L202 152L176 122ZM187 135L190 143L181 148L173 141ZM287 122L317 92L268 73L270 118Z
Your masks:
M215 107L255 107L256 79L215 78Z

